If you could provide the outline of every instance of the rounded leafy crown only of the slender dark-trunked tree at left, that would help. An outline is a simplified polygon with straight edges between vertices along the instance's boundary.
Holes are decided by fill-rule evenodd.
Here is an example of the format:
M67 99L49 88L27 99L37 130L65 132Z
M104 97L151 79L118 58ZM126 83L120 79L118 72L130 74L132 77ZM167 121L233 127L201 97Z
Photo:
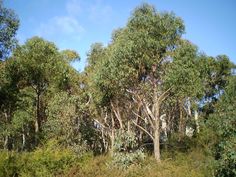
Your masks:
M26 83L40 92L47 88L58 71L58 49L39 37L33 37L18 47L13 58L17 60Z

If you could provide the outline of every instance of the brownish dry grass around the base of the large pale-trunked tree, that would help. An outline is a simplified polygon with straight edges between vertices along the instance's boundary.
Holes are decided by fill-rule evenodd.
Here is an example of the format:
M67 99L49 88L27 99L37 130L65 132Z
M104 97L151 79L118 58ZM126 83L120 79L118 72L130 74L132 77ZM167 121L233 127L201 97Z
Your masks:
M209 157L199 151L187 155L176 153L165 157L160 164L147 157L141 165L132 165L128 169L110 167L107 156L98 156L81 162L66 174L67 177L203 177L211 176L207 166Z

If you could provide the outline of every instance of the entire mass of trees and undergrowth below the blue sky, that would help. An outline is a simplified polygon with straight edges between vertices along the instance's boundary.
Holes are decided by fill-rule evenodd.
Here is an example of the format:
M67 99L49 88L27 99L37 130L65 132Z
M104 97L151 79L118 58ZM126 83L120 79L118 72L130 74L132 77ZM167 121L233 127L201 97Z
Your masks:
M83 72L0 1L0 176L236 176L236 77L142 4Z

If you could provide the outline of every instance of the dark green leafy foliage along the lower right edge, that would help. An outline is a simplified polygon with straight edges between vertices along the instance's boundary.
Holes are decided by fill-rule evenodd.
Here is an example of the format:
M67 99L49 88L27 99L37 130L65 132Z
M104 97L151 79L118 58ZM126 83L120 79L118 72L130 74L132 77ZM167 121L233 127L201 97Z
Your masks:
M232 76L216 106L216 112L207 121L208 128L214 131L213 153L216 159L215 176L236 175L236 77Z

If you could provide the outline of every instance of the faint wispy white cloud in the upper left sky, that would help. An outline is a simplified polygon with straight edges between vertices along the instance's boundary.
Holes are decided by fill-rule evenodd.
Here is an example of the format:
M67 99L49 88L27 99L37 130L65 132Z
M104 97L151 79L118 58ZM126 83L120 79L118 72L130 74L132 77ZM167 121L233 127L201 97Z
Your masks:
M86 35L81 22L104 25L110 22L113 13L111 6L103 0L67 0L64 10L65 14L42 22L33 33L56 42L60 48L70 47Z

